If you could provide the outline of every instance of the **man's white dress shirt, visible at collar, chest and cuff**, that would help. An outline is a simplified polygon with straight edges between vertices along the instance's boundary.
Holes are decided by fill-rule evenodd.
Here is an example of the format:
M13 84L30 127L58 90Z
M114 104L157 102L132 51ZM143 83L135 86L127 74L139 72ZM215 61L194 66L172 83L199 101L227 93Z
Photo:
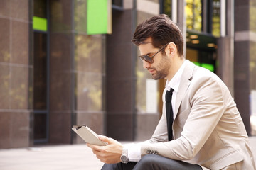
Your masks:
M187 61L185 60L185 62L187 62ZM178 69L178 72L176 72L174 77L170 81L166 81L166 86L165 86L166 90L170 91L171 88L174 89L173 96L171 99L171 105L172 105L174 113L176 113L175 112L175 101L176 101L176 96L178 93L178 86L181 82L181 75L182 75L184 67L185 67L184 65L185 64L183 62L183 64L181 65L181 68ZM175 117L175 115L174 115L174 117ZM146 141L146 142L148 142L148 141ZM142 159L140 144L131 143L131 144L124 145L124 147L127 149L129 162L139 162L139 160Z

